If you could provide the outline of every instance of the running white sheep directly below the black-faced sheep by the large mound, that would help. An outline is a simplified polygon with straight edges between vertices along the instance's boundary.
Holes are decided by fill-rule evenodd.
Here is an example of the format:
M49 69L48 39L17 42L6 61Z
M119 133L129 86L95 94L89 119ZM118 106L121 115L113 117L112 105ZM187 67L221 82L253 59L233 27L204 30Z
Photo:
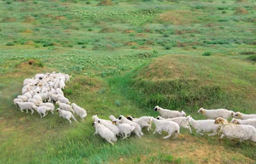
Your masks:
M174 121L166 121L166 120L158 120L152 117L153 123L156 125L156 129L153 132L157 131L159 134L162 134L161 131L168 132L168 135L164 137L164 139L171 137L171 135L174 133L174 138L178 137L178 134L180 133L180 126L178 126L177 123Z

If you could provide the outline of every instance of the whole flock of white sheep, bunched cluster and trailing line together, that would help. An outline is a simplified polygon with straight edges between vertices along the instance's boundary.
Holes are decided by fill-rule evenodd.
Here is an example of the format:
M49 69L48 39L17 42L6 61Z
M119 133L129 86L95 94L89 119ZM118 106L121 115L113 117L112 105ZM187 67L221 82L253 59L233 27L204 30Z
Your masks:
M67 119L70 123L76 113L82 121L86 117L85 109L77 106L75 103L70 102L64 97L62 89L65 87L65 82L69 81L68 74L62 73L46 73L37 74L32 79L25 79L23 82L22 95L17 96L14 99L14 104L20 107L21 112L28 109L33 114L34 110L41 116L41 119L50 111L54 113L54 104L59 106L56 112L59 113L59 117ZM200 135L201 132L212 132L208 136L219 135L222 133L221 138L224 136L234 140L239 138L240 142L244 140L251 140L256 142L256 114L243 114L240 112L233 112L226 109L212 109L207 110L200 108L198 113L202 113L208 119L206 120L194 120L191 116L186 116L185 112L171 111L163 109L159 106L154 108L155 112L159 112L161 116L156 118L150 116L143 116L140 118L134 118L131 116L124 117L120 115L116 119L113 115L110 120L100 119L97 115L92 116L94 122L92 126L95 126L95 134L99 134L102 138L109 143L114 144L117 141L117 137L121 136L125 139L134 133L138 137L143 136L142 128L147 127L147 130L151 130L151 123L156 126L153 134L162 131L168 133L164 138L169 138L174 135L174 138L180 133L180 128L186 128L191 133L190 125ZM233 117L228 122L227 119ZM77 122L77 121L76 121Z

